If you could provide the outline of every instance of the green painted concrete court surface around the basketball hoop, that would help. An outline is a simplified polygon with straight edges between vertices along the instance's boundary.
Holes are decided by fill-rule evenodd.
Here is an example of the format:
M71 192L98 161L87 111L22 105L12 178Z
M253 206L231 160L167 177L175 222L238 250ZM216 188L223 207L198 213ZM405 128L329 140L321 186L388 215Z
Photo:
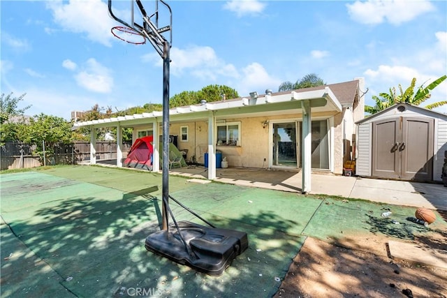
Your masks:
M129 297L137 289L164 297L270 297L307 236L366 231L411 239L427 232L382 218L390 207L384 204L170 177L174 198L219 228L249 234L247 251L211 277L145 250L145 237L161 222L161 174L69 166L0 179L1 297ZM178 221L200 223L170 207ZM402 222L413 214L390 209Z

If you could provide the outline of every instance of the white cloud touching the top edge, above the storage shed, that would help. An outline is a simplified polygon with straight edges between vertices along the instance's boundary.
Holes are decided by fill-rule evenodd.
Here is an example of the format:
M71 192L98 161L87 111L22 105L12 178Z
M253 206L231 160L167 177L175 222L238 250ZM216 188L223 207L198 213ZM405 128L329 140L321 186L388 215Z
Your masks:
M399 25L434 9L430 1L368 0L346 4L351 18L362 24L389 22Z

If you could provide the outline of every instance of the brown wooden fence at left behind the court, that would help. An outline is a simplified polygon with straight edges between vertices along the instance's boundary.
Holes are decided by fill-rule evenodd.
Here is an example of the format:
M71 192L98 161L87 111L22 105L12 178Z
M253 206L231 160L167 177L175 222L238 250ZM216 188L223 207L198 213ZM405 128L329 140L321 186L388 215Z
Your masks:
M131 148L130 142L123 143L123 156ZM54 154L47 156L45 161L39 161L33 154L36 146L16 142L8 142L1 146L1 170L12 170L43 165L69 165L90 159L90 143L74 142L73 144L56 144L52 148ZM117 158L116 142L96 142L96 159L108 160Z

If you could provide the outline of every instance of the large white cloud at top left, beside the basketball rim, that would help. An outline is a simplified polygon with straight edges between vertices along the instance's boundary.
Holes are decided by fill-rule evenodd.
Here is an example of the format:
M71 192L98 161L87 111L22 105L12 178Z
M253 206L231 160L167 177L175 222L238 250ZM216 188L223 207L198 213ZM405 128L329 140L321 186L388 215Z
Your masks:
M110 28L116 25L108 15L107 3L101 0L48 1L47 8L53 13L54 22L57 22L67 31L86 33L87 38L106 46L110 46ZM101 13L102 12L102 13ZM50 29L45 29L50 32Z

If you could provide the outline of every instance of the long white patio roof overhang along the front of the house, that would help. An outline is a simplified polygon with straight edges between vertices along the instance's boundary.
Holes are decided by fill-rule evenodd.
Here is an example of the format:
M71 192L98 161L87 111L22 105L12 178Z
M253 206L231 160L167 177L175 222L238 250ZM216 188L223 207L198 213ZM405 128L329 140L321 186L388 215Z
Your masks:
M235 98L221 100L200 105L189 105L185 107L174 107L169 111L170 122L176 121L207 121L210 112L214 112L216 119L224 119L230 115L239 117L270 116L274 114L293 114L302 110L301 100L309 100L312 112L342 112L342 105L337 100L329 87L313 91L291 91L277 95L265 94L256 99ZM122 126L131 127L151 122L163 121L163 113L149 112L142 114L126 115L91 121L75 122L73 128L90 126L93 128Z

